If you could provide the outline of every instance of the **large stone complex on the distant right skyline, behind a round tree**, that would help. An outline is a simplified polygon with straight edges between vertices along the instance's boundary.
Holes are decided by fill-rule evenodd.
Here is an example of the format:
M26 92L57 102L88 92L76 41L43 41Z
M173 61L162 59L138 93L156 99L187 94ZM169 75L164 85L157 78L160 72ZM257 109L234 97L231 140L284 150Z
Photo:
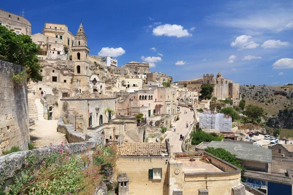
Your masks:
M187 85L189 90L200 91L201 85L209 83L213 85L213 97L217 99L233 98L239 99L239 83L234 83L229 78L223 78L219 72L214 78L213 74L203 75L203 78L194 78L192 80L177 81L178 86Z

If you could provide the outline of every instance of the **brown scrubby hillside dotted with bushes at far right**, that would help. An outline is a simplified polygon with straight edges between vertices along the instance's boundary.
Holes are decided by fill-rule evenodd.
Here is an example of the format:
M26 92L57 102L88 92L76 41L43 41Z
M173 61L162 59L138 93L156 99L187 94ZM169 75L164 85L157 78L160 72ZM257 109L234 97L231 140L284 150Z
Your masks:
M260 106L268 116L276 116L279 110L293 109L293 86L242 85L240 95L249 104Z

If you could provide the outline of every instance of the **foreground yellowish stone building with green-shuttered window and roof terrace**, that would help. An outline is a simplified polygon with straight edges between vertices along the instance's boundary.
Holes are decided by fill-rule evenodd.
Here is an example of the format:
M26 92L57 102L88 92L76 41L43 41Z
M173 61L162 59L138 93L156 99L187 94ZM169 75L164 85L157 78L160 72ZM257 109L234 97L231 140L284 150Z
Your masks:
M211 163L200 160L204 156ZM120 178L124 173L127 183L119 189L134 195L245 194L240 169L209 153L204 156L192 157L195 161L171 157L168 139L165 143L123 143L114 174Z

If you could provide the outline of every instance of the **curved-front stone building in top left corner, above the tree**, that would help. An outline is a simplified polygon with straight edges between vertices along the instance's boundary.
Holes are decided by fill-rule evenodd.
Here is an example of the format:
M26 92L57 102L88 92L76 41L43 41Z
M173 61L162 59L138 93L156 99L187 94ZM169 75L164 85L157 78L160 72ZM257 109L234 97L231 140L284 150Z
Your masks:
M6 12L0 9L0 25L5 26L9 30L14 30L17 35L31 35L32 25L30 21L22 16Z

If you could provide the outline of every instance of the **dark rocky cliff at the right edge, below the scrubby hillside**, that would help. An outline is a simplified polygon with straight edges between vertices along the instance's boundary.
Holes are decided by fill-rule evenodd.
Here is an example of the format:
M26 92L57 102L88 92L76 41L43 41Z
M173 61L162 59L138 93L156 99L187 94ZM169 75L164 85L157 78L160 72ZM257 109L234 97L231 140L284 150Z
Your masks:
M280 110L278 116L268 119L267 126L276 129L293 129L293 109Z

